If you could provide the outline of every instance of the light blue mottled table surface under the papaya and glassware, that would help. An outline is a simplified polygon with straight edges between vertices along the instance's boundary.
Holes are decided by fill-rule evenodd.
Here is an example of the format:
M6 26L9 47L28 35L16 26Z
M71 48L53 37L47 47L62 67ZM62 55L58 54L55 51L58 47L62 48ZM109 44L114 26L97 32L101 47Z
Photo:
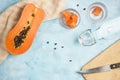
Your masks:
M17 1L1 0L0 12ZM103 22L120 16L120 0L67 0L66 8L74 8L81 15L79 26L72 30L65 29L59 24L59 19L42 23L33 45L25 54L9 55L0 64L0 80L84 80L76 71L113 44L120 36L99 40L89 47L79 44L77 39L82 31L94 30L103 23L94 25L88 21L86 10L83 8L88 8L93 2L102 2L107 6L108 15ZM76 6L77 4L79 7ZM47 41L49 44L46 44Z

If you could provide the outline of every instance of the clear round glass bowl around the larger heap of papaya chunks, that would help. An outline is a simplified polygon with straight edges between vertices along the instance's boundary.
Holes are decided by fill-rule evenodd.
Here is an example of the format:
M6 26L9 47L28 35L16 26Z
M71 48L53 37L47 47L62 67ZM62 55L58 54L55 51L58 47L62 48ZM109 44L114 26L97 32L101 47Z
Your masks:
M75 10L75 9L72 9L72 8L65 9L64 11L74 13L74 14L76 14L78 16L78 21L77 21L77 24L76 24L76 27L77 27L79 25L79 23L80 23L80 14L79 14L79 12L77 10ZM61 12L61 16L60 16L60 24L62 24L62 26L67 28L67 29L74 29L74 28L70 28L68 25L66 25L65 18L62 16L62 12Z

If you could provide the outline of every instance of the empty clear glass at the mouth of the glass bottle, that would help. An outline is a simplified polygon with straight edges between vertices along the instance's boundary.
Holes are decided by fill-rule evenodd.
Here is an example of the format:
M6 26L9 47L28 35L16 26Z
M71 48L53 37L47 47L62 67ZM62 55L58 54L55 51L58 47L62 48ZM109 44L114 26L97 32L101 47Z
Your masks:
M96 43L96 40L91 32L91 29L88 29L82 32L78 38L80 44L83 46L92 46Z

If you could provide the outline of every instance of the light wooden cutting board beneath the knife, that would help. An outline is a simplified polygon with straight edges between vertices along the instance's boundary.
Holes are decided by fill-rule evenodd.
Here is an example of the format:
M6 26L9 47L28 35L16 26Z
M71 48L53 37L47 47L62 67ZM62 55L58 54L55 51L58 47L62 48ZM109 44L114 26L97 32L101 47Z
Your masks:
M120 62L120 40L83 66L82 70ZM85 80L120 80L120 68L107 72L84 74Z

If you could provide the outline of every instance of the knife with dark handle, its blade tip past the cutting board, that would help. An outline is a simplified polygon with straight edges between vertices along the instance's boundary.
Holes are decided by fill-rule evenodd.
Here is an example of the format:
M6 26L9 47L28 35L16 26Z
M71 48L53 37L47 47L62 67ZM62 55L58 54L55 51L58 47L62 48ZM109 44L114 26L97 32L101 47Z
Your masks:
M120 63L116 64L111 64L111 65L106 65L106 66L101 66L101 67L96 67L96 68L91 68L88 70L82 70L77 72L78 74L92 74L92 73L99 73L99 72L104 72L104 71L110 71L112 69L117 69L120 68Z

